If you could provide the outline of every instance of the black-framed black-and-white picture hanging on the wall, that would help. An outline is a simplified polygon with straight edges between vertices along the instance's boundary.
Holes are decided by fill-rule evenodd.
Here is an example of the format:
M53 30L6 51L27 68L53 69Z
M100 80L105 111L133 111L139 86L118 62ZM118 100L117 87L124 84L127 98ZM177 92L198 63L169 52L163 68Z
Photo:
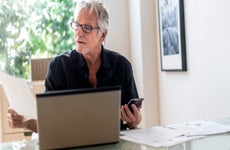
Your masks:
M158 0L162 71L187 71L183 0Z

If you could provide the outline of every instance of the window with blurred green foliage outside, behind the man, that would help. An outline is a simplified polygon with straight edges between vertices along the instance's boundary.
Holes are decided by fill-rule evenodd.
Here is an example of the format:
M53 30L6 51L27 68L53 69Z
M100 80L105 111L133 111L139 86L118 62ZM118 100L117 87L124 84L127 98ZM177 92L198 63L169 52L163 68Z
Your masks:
M30 78L30 59L74 48L75 1L1 0L0 70Z

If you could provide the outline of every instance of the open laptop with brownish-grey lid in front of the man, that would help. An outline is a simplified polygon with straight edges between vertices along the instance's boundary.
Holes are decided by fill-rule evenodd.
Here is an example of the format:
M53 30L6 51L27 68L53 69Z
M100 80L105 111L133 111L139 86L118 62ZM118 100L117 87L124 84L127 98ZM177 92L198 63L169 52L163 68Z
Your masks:
M120 101L120 87L37 94L40 149L118 142Z

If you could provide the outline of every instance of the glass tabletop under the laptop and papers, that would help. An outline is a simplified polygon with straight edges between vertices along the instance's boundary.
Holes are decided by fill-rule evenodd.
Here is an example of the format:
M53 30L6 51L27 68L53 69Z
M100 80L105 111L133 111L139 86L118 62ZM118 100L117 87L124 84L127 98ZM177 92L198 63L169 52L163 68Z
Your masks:
M108 144L94 147L84 147L75 149L84 150L230 150L230 134L220 134L208 136L202 139L174 145L172 147L154 148L142 144L136 144L120 140L117 144ZM0 150L39 150L38 141L18 141L10 143L1 143Z

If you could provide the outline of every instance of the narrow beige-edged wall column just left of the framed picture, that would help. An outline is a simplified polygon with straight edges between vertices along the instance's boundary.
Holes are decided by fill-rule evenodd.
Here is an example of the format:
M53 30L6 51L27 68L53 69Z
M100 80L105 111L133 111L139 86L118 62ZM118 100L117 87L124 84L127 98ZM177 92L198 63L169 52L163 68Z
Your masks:
M154 1L130 0L130 41L134 73L143 103L143 126L159 124Z

